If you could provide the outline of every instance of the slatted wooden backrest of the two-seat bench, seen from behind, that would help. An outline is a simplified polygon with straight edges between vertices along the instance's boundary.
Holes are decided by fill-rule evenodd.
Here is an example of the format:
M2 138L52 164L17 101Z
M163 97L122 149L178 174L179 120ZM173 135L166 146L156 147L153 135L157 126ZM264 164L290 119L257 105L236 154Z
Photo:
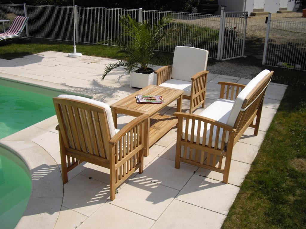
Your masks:
M234 125L234 128L237 130L235 133L235 139L239 139L243 134L241 132L244 132L245 125L250 124L248 123L248 120L253 120L251 117L255 116L257 109L263 102L263 97L265 96L265 92L268 84L271 81L272 75L273 71L269 72L244 99L241 111L239 112Z

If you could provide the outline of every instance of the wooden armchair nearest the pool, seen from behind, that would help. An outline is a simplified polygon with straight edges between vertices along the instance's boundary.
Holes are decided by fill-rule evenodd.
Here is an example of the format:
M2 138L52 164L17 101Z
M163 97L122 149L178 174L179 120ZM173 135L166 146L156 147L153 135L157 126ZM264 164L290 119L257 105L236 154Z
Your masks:
M115 129L110 107L80 96L53 98L59 125L63 183L68 172L86 161L110 169L110 200L132 173L143 172L144 123L141 115Z

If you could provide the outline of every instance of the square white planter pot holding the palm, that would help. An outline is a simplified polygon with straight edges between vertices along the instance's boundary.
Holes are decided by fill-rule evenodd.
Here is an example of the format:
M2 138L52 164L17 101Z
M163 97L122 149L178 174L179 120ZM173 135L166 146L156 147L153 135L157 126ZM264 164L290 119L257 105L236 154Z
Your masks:
M147 85L156 85L157 75L152 72L150 74L143 74L138 72L132 72L130 75L130 88L144 88Z

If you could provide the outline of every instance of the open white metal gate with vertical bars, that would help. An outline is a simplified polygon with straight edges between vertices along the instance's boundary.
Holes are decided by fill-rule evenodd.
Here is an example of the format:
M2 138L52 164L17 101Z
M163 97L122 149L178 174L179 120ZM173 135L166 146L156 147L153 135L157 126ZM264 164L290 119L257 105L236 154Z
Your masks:
M217 60L244 56L248 12L226 12L221 7Z

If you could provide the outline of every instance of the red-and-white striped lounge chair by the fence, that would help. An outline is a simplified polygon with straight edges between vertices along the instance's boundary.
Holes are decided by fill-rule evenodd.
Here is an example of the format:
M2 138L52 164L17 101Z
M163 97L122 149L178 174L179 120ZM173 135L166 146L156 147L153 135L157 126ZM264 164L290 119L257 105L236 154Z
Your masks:
M8 38L26 38L24 36L21 36L21 32L25 27L25 24L28 21L28 17L24 16L16 16L15 19L13 20L13 23L9 27L8 31L5 33L0 34L0 41L8 39Z

